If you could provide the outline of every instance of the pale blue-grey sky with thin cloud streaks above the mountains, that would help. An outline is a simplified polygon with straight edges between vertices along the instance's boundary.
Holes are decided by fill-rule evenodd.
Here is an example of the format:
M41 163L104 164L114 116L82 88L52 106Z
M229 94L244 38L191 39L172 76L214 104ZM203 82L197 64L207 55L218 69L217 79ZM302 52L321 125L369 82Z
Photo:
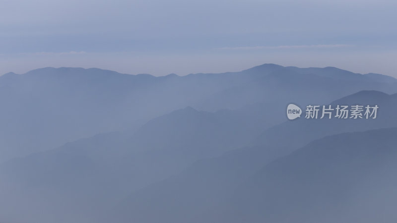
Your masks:
M155 76L263 63L397 77L395 0L0 0L0 75Z

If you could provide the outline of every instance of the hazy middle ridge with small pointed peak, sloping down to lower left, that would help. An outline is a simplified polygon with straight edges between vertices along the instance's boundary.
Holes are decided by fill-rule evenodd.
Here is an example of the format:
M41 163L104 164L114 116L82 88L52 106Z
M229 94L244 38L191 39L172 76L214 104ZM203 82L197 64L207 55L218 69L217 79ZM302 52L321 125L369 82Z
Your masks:
M100 134L5 162L0 165L0 214L22 222L94 218L132 190L247 144L260 132L258 126L264 129L276 120L261 120L261 114L272 114L262 107L218 112L188 107L137 131ZM21 210L27 211L17 215Z

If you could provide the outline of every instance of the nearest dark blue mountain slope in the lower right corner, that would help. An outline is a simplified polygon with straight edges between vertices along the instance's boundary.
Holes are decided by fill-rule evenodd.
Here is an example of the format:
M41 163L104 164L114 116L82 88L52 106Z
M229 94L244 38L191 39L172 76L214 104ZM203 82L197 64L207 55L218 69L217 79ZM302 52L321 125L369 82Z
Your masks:
M221 222L397 221L397 128L316 140L234 191ZM225 218L224 218L225 217Z

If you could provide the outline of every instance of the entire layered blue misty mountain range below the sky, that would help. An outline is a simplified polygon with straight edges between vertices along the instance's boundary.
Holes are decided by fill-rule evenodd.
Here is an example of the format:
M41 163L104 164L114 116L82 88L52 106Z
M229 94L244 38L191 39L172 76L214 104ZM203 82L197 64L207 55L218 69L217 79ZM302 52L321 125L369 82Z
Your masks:
M396 93L335 67L7 73L0 222L393 222ZM288 103L379 112L287 121Z

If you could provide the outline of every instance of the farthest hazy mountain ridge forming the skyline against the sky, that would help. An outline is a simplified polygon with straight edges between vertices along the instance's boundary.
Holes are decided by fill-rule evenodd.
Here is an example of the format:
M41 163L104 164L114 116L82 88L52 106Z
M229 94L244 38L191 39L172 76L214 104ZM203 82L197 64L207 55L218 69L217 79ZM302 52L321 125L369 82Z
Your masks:
M265 102L314 103L360 90L394 93L396 86L332 67L292 69L275 64L164 77L66 67L8 73L0 76L0 162L139 125L187 106L217 111Z

